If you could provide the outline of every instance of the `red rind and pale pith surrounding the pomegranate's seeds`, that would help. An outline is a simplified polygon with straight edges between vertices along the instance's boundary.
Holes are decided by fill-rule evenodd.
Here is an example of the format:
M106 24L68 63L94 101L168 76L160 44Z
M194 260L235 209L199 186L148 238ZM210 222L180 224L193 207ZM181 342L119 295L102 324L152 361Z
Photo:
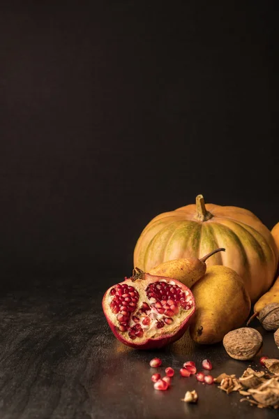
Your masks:
M158 334L158 337L137 337L135 340L129 339L127 336L127 333L120 332L119 326L115 321L112 320L112 311L110 310L110 301L111 301L111 295L110 291L114 286L110 287L105 295L103 296L102 306L103 311L105 314L105 318L107 319L107 323L110 325L110 328L119 341L121 341L126 346L130 346L130 348L137 348L137 349L156 349L156 348L163 348L164 346L173 343L174 341L177 341L180 339L189 326L189 320L195 313L195 297L193 293L190 291L190 289L185 286L184 284L181 284L181 282L176 281L176 279L167 278L167 277L155 277L150 274L144 273L144 276L140 279L133 279L133 277L129 279L125 279L125 281L120 282L119 284L126 284L128 286L134 286L137 291L140 292L139 288L137 288L137 281L140 281L140 284L142 286L142 289L146 289L149 284L152 284L153 282L157 281L165 281L170 282L170 284L176 284L181 288L181 291L186 292L187 295L190 296L190 302L191 307L188 310L183 311L183 316L181 318L181 321L175 326L175 328L165 326L166 329L168 329L167 332L164 332L164 330L160 329L160 334ZM176 316L174 316L175 318Z

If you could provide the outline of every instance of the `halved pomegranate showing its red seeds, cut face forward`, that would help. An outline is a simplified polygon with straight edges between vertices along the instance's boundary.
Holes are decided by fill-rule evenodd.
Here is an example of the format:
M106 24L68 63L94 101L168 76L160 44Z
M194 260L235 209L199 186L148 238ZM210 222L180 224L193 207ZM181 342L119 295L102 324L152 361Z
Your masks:
M186 332L195 312L195 298L176 279L135 268L132 277L107 290L103 311L123 344L139 349L162 348Z

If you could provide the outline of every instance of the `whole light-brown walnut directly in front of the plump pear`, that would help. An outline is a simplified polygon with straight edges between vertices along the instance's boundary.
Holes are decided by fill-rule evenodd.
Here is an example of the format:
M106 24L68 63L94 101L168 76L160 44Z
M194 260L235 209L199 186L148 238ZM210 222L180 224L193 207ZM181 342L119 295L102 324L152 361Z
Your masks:
M239 328L227 333L223 345L228 355L235 360L250 360L262 348L262 335L252 328Z

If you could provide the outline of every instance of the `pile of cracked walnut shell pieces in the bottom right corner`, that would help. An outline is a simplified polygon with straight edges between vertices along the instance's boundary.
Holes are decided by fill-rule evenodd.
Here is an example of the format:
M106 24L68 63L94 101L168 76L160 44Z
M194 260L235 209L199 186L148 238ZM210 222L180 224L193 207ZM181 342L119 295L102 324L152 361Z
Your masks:
M236 378L235 374L224 373L214 378L214 382L219 383L218 388L227 394L238 391L240 395L246 396L240 400L241 402L249 402L251 406L255 404L259 409L279 409L279 360L269 361L266 362L266 368L274 374L256 372L248 367L239 378Z

